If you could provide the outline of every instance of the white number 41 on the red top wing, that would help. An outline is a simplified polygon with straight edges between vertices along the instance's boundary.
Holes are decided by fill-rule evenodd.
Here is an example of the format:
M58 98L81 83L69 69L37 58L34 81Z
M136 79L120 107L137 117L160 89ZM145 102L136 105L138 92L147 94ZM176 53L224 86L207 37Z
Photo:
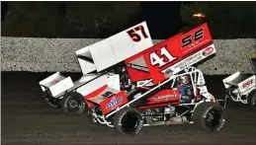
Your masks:
M158 67L162 67L165 64L177 59L177 57L171 55L171 53L166 49L166 46L160 49L160 57L156 54L156 52L152 52L149 55L151 65L155 66L158 64ZM164 60L164 58L167 59Z

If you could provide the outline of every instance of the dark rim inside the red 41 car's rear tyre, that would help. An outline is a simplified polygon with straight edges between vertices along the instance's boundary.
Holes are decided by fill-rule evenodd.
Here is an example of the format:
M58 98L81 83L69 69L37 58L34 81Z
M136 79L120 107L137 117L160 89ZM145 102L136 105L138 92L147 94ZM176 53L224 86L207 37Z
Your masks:
M210 109L205 116L205 123L211 130L217 128L222 119L222 111L220 109Z

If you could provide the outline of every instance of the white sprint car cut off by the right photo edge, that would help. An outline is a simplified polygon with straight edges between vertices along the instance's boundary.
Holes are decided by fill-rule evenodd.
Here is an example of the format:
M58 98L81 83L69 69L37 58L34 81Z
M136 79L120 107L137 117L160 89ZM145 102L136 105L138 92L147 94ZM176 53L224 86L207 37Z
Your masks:
M222 80L226 89L225 99L240 102L256 109L256 52L249 56L254 75L241 74L239 71Z

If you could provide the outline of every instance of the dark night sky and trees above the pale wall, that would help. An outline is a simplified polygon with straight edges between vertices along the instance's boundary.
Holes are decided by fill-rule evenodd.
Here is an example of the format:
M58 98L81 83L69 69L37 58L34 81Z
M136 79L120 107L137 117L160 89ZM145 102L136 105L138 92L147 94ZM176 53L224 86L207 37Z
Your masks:
M213 38L256 37L255 2L1 2L2 36L104 38L146 21L154 39L199 25Z

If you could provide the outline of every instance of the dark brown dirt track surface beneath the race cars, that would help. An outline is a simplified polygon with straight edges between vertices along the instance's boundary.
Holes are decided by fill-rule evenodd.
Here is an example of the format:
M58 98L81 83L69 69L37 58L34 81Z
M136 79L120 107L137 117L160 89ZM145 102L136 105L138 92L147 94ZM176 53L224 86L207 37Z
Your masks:
M2 72L2 144L256 145L256 111L239 103L228 103L226 123L216 133L202 133L188 124L143 127L138 136L120 136L113 128L90 124L85 114L67 116L45 106L38 82L48 75ZM223 77L206 77L209 91L217 99L224 97Z

